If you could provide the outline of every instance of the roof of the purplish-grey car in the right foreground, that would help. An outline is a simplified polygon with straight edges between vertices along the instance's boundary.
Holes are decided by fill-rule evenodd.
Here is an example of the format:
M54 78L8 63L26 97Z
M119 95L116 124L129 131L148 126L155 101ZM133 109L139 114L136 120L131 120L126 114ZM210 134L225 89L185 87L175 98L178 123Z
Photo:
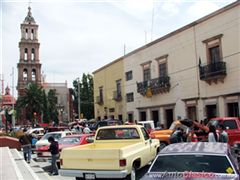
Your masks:
M169 153L208 153L225 155L228 153L228 144L219 142L174 143L162 149L159 154Z

